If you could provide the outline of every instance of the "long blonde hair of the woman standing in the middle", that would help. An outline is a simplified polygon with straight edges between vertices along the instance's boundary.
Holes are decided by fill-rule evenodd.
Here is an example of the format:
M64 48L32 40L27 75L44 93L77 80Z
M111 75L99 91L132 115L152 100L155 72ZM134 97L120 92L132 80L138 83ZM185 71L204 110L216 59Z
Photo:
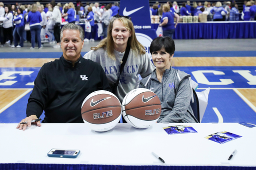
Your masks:
M119 20L123 24L123 26L131 33L131 36L128 38L128 42L127 42L127 45L130 45L130 49L135 51L137 54L145 54L146 53L145 48L142 44L140 44L138 42L136 35L135 35L134 26L133 26L131 20L129 20L125 17L120 17L120 18L113 17L109 21L109 25L107 28L107 37L102 39L97 46L91 47L90 49L97 50L99 48L104 48L107 51L108 57L115 60L114 41L113 41L113 37L112 37L113 23L115 20Z

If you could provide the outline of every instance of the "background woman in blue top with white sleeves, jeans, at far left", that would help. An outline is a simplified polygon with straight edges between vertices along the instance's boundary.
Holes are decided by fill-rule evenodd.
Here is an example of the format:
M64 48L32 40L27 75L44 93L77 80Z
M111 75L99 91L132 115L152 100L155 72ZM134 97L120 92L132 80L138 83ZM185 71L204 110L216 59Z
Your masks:
M23 47L23 31L24 31L24 15L22 9L19 7L17 9L17 16L13 19L13 22L16 23L16 26L13 30L13 38L14 38L14 45L11 47ZM18 45L18 38L19 38L19 45Z

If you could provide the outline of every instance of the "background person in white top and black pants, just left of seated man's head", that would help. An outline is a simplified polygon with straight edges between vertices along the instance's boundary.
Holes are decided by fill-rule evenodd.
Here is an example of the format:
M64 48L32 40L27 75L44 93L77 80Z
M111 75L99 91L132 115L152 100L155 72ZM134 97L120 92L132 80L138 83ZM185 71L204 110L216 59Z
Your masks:
M57 42L57 44L54 45L53 48L59 48L60 47L59 33L60 33L60 26L61 26L61 13L59 10L59 6L56 5L54 0L52 0L48 5L51 8L53 8L52 16L50 17L50 19L54 21L53 35Z

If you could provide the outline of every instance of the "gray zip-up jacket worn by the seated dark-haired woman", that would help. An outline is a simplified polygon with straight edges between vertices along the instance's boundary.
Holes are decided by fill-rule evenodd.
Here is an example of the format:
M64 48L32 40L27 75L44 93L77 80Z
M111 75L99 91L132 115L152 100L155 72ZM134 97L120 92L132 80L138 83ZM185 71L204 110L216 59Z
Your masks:
M174 68L166 69L162 82L156 70L139 82L140 88L153 91L161 101L161 115L157 123L197 123L190 106L193 96L190 75Z

